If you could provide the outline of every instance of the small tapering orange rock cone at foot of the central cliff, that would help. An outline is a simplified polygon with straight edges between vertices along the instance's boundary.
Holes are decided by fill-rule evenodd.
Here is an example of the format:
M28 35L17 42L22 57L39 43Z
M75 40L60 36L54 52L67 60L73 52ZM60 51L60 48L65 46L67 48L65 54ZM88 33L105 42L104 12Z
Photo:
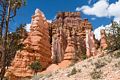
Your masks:
M70 33L68 34L67 38L67 47L65 49L64 59L59 64L60 67L68 67L70 64L72 64L76 60L76 51L75 51L75 45L72 37L70 36Z

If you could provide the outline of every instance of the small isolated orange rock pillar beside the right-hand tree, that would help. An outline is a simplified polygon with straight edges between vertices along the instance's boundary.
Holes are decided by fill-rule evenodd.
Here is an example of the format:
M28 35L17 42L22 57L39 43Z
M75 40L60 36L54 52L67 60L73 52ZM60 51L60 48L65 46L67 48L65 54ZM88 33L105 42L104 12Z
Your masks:
M106 49L107 48L107 39L106 39L106 33L105 33L105 30L102 29L100 31L101 33L101 38L100 38L100 47L102 50Z

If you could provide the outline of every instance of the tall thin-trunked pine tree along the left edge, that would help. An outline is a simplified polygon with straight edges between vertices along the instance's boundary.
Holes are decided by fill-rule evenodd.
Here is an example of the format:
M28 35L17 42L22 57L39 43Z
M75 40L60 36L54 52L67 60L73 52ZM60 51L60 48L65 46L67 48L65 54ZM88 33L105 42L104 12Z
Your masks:
M17 9L25 5L25 0L0 0L1 7L1 23L0 23L0 40L1 46L3 47L2 57L1 57L1 72L0 78L3 80L5 74L5 67L7 64L7 54L8 54L8 34L9 34L9 22L16 16ZM3 33L3 27L5 28ZM4 36L3 36L4 34Z

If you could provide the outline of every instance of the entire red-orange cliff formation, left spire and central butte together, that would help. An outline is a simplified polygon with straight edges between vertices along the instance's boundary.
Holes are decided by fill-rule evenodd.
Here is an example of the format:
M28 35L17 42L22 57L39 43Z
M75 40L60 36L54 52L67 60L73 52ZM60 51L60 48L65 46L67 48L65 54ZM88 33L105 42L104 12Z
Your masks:
M105 42L103 38L104 35L102 42ZM36 9L30 32L23 44L24 48L17 51L7 71L10 80L33 76L29 65L35 60L49 72L81 61L83 53L87 57L97 53L92 25L88 19L81 19L80 12L60 12L48 24L43 13Z

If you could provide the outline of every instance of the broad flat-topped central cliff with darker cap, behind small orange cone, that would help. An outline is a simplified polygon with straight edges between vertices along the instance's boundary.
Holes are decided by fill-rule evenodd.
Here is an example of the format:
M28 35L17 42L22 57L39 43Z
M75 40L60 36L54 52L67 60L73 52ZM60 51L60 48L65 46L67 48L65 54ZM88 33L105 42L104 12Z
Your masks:
M85 53L86 29L92 30L88 19L82 20L80 12L59 12L56 19L50 24L53 63L64 60L66 48L68 49L69 34L75 49L76 59L80 60L81 54Z

